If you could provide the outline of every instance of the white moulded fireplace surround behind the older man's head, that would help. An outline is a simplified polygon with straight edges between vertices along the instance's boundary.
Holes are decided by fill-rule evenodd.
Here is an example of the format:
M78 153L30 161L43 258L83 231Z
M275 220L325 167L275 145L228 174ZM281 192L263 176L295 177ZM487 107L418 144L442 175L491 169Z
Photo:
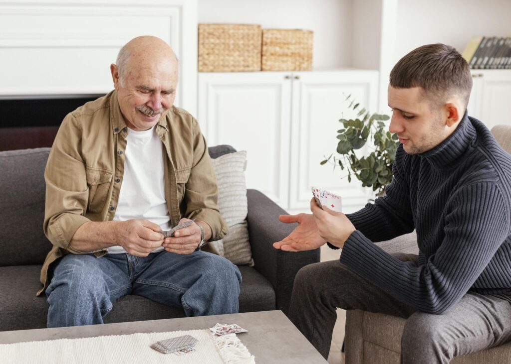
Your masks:
M196 0L0 1L0 97L106 93L130 39L154 35L180 59L176 105L196 112Z

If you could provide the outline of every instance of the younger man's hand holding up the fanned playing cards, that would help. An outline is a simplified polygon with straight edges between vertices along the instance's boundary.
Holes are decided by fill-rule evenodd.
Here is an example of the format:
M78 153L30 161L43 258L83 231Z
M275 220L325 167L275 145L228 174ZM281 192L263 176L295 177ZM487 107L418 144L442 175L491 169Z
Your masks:
M311 211L321 238L336 247L342 248L346 239L356 230L346 215L325 206L321 209L314 198L311 199Z

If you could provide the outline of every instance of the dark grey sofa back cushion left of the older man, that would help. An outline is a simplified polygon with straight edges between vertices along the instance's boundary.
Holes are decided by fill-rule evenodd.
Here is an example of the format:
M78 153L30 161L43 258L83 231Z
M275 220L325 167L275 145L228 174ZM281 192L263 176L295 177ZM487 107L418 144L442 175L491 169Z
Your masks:
M41 264L52 248L42 230L49 153L50 148L0 152L0 267Z

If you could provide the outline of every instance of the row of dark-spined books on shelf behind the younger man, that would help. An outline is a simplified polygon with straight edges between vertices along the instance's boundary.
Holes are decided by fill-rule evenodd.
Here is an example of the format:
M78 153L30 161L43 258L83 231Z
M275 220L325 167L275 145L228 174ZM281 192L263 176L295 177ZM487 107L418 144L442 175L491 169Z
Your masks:
M472 69L511 68L511 37L474 36L461 55Z

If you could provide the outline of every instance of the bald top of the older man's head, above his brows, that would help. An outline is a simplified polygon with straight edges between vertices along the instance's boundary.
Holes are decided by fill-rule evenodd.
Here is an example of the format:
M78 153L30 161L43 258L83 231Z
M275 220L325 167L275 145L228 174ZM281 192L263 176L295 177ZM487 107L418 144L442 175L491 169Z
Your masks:
M174 51L164 40L153 36L136 37L126 43L117 56L119 81L124 85L133 67L170 67L177 74L178 62Z

